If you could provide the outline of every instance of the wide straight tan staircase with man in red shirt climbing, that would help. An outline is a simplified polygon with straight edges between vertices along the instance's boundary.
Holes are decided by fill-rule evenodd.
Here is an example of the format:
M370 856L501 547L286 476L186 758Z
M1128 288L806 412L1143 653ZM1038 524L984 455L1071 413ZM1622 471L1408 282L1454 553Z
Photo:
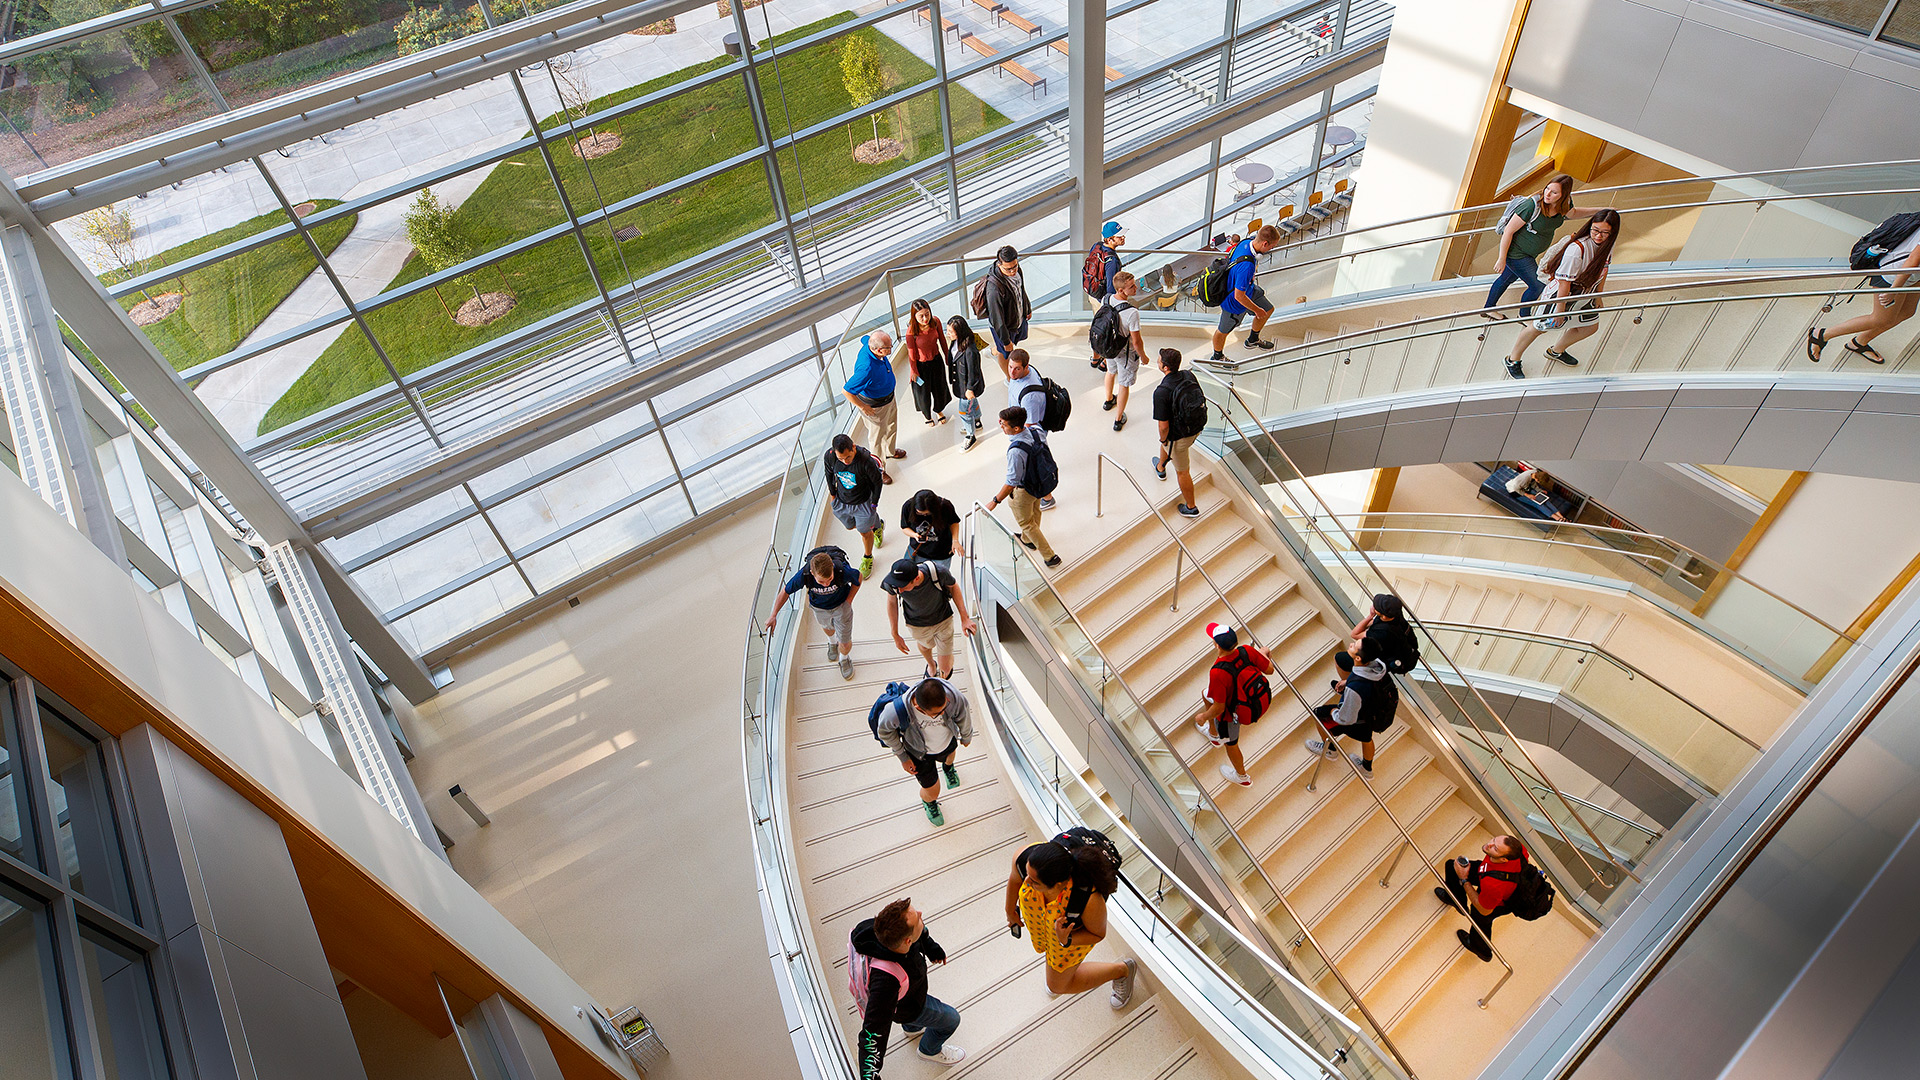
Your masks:
M1125 503L1133 513L1123 515L1127 523L1100 548L1100 559L1068 567L1054 590L1413 1070L1471 1076L1480 1057L1453 1040L1471 1034L1467 1043L1478 1038L1494 1045L1578 955L1592 924L1567 911L1530 924L1503 920L1498 944L1517 972L1476 1007L1498 965L1490 972L1461 947L1461 920L1434 897L1436 880L1405 853L1400 828L1434 859L1475 853L1505 828L1409 723L1377 742L1371 792L1346 761L1315 761L1306 751L1304 740L1319 734L1306 705L1329 698L1332 651L1348 626L1323 615L1219 490L1212 469L1196 471L1194 484L1208 511L1185 519L1173 513L1177 490L1160 488L1167 494L1146 509L1131 492L1116 492L1127 484L1108 477L1106 515ZM1308 696L1304 705L1275 678L1271 711L1242 728L1250 788L1221 776L1225 753L1187 723L1202 703L1213 657L1204 626L1242 621L1277 671Z

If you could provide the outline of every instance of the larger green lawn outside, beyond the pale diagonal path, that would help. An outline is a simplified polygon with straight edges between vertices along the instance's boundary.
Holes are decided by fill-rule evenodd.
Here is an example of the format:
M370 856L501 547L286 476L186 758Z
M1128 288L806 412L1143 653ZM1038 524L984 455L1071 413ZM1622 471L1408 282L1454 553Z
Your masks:
M851 17L851 13L839 13L780 35L774 42L797 40ZM927 63L883 33L870 27L856 31L856 35L870 37L879 46L891 88L910 86L933 75ZM781 56L778 73L770 60L762 60L758 67L760 92L768 113L774 117L791 115L793 127L804 129L852 108L839 67L845 40L843 37L793 56ZM766 46L760 50L764 52ZM716 56L639 86L607 94L597 98L589 111L674 86L726 63L730 58ZM536 73L534 77L543 79L545 75ZM950 88L950 98L954 138L960 142L1008 123L1004 115L960 86ZM541 121L541 131L559 129L564 119L564 115L547 117ZM576 213L597 209L601 200L620 202L756 146L753 117L747 111L745 81L739 75L687 94L676 94L637 113L599 125L595 131L620 135L622 146L603 158L582 161L568 144L553 144L555 165ZM906 154L877 165L854 161L852 142L874 136L874 125L866 117L803 142L799 167L804 179L804 200L820 204L876 177L937 156L943 148L935 94L929 90L902 108L891 110L881 117L879 131L883 136L900 138L906 144ZM783 133L781 125L776 135ZM793 152L781 156L781 183L789 204L801 206L803 190L793 175ZM528 236L564 221L564 208L547 181L538 148L495 165L455 215L476 252ZM766 184L766 169L753 161L680 190L672 198L620 213L612 221L612 229L634 227L639 229L639 234L622 242L612 238L612 229L601 225L591 231L589 248L595 269L612 290L680 259L724 246L772 221L774 202ZM419 281L428 273L420 259L409 259L388 288ZM461 327L447 317L442 298L457 309L472 292L468 286L442 286L438 298L428 290L367 315L399 371L419 371L595 296L580 244L572 236L486 267L474 275L474 284L482 292L511 290L518 298L518 306L486 327ZM342 334L294 382L286 396L275 402L259 430L265 434L384 382L388 382L386 367L372 354L367 338L357 332Z

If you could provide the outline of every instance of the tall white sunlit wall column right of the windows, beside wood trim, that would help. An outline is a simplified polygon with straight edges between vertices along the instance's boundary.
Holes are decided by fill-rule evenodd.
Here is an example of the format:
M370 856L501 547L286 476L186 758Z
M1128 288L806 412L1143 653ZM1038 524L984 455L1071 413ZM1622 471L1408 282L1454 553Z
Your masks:
M1455 208L1513 6L1515 0L1421 0L1394 10L1346 252L1425 236L1436 223L1371 236L1352 231ZM1440 244L1417 244L1340 263L1334 294L1432 281L1438 259Z

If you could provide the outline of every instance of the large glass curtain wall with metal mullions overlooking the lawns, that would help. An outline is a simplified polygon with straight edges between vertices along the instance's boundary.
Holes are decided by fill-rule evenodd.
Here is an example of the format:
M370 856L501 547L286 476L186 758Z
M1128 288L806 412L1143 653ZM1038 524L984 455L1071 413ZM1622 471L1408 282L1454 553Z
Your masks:
M0 163L29 194L65 192L104 154L148 163L140 140L196 119L561 19L564 50L528 65L438 77L444 90L405 108L44 211L432 653L770 482L801 419L795 388L845 319L705 371L710 346L1064 181L1066 4L989 8L720 0L609 29L566 25L551 0L346 0L298 19L284 2L221 0L69 27L40 2L0 44L21 71L0 88ZM1390 13L1377 0L1112 2L1108 158L1271 98L1302 65L1380 40ZM1325 117L1363 100L1342 86L1286 102L1156 169L1131 206L1152 217L1137 236L1204 236L1329 186L1357 142L1344 160L1315 154ZM1348 127L1363 133L1363 117ZM1271 181L1215 190L1210 175L1246 158L1271 160ZM591 419L549 423L563 415ZM380 519L355 513L536 425L557 434L520 461L409 488Z

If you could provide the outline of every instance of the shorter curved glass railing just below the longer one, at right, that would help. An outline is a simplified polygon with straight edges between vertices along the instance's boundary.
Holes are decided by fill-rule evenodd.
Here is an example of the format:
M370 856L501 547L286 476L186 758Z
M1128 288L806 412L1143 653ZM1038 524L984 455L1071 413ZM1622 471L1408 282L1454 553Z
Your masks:
M1724 794L1764 749L1678 690L1592 642L1432 619L1425 626L1469 675L1549 686L1711 796Z

